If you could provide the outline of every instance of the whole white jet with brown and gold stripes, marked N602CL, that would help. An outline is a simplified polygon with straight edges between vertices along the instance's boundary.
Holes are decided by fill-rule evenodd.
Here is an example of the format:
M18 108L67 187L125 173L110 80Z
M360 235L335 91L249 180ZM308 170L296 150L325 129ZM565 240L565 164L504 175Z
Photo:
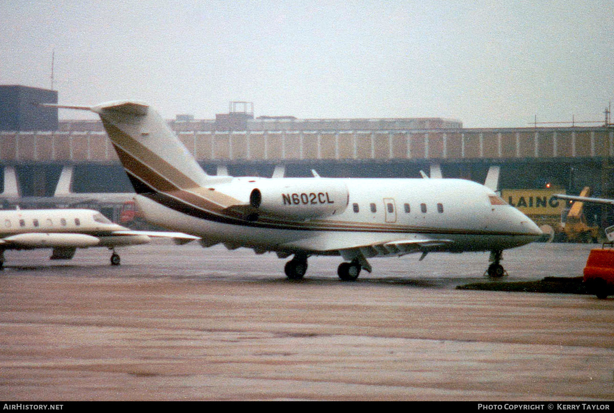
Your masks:
M290 279L305 275L311 255L340 255L339 277L356 280L371 272L368 258L464 251L491 251L488 274L502 276L502 250L542 234L468 180L209 176L147 104L55 107L100 116L146 220L199 236L205 247L293 255Z

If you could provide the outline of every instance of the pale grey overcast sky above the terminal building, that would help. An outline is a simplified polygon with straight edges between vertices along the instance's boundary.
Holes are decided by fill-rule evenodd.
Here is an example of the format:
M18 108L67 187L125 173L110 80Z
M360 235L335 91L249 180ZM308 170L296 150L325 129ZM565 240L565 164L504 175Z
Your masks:
M480 128L602 120L614 100L611 0L0 0L0 38L0 84L49 88L55 51L60 103L139 99L165 118L250 101Z

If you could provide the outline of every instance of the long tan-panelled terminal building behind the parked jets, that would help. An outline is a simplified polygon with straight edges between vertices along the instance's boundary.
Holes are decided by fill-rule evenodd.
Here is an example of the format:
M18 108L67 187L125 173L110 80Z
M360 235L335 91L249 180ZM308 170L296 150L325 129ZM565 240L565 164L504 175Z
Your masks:
M56 102L57 95L49 99ZM130 181L101 122L44 125L20 124L14 130L0 125L5 205L17 199L22 204L66 204L65 195L74 194L129 197ZM231 102L228 113L215 119L177 115L169 126L209 174L271 176L283 166L285 176L293 177L311 176L312 169L327 177L420 177L421 171L433 170L444 177L484 182L489 166L497 165L501 190L542 190L548 185L578 194L590 187L593 196L614 198L614 184L609 184L614 128L608 113L596 126L464 128L459 120L437 117L254 117L251 102ZM117 206L113 208L107 215L116 218ZM588 209L590 220L612 225L607 210Z

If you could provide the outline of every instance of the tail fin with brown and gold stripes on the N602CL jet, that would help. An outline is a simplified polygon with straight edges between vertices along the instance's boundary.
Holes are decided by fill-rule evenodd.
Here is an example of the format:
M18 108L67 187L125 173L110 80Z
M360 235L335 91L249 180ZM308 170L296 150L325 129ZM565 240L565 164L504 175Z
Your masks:
M147 104L117 101L90 110L103 121L137 193L203 187L215 180Z

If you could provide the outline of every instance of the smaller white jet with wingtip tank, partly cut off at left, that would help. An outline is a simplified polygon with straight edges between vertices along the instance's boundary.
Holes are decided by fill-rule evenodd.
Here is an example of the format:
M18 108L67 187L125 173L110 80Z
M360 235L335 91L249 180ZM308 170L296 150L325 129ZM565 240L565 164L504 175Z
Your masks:
M147 244L150 237L170 237L177 244L198 237L163 231L132 231L91 209L0 210L0 269L5 250L53 249L52 260L70 260L77 248L107 247L119 265L115 247Z

